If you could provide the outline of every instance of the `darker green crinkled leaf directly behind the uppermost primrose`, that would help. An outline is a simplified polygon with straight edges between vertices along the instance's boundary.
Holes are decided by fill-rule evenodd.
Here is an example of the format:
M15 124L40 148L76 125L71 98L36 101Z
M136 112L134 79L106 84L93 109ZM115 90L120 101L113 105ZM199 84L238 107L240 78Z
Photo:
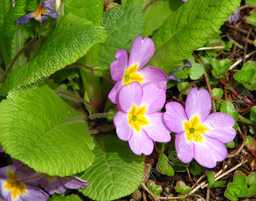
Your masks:
M133 4L116 6L104 16L106 20L102 25L106 27L108 38L100 45L100 64L110 65L116 60L114 55L119 49L129 51L135 37L144 33L145 18L140 8Z

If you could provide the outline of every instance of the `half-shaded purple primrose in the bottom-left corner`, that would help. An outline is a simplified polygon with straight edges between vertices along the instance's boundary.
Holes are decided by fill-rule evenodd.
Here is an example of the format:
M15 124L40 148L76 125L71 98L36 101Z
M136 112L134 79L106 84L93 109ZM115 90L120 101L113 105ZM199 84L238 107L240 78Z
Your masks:
M19 181L29 174L14 165L0 168L0 198L1 201L48 200L49 195L37 188L37 181Z

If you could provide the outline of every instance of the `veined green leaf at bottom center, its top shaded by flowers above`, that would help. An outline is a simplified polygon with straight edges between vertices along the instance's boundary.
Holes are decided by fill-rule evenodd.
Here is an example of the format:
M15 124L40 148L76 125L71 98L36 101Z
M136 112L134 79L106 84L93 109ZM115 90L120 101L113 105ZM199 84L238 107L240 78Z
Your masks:
M90 182L80 191L92 200L109 201L132 194L143 179L144 160L116 135L94 137L95 161L78 176Z

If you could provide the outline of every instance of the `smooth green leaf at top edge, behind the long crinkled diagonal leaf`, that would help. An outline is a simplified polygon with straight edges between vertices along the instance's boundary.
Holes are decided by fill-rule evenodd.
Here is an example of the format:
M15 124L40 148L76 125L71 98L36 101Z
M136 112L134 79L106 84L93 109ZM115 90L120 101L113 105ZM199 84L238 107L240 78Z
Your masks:
M144 37L152 35L153 31L159 29L167 17L183 4L182 1L163 0L150 5L144 12L146 27Z

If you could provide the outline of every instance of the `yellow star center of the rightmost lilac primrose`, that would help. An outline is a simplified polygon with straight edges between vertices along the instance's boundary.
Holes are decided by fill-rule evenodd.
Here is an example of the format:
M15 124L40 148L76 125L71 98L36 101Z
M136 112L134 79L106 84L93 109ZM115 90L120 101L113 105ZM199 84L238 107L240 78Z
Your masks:
M200 124L200 117L197 115L193 116L190 121L183 121L183 128L188 140L191 142L203 143L203 134L209 132L209 128Z

